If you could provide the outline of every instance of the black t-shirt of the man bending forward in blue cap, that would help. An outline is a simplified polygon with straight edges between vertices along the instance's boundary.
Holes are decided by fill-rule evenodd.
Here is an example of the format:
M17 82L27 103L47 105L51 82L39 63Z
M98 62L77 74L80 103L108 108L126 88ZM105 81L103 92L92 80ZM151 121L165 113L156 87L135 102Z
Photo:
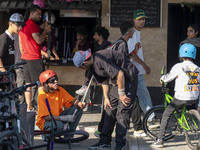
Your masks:
M126 82L137 77L138 71L133 63L122 53L111 48L95 52L93 59L91 70L99 83L116 80L120 70L124 72Z

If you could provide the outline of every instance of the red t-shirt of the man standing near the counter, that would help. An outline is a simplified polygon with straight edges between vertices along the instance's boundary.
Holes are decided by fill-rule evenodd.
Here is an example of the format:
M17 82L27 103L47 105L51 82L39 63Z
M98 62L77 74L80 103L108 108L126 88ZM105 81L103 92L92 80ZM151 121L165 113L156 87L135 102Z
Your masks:
M32 34L40 33L38 25L31 19L28 19L26 26L24 26L19 32L22 43L22 59L25 60L36 60L41 59L40 44L37 44Z

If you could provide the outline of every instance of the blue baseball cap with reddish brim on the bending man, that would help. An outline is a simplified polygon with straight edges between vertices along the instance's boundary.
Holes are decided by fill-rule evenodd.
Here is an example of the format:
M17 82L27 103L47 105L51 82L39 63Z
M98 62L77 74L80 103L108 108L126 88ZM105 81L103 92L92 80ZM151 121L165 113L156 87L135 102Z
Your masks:
M83 65L83 62L87 60L91 56L91 50L88 49L86 51L77 51L73 57L73 62L76 67L80 67Z

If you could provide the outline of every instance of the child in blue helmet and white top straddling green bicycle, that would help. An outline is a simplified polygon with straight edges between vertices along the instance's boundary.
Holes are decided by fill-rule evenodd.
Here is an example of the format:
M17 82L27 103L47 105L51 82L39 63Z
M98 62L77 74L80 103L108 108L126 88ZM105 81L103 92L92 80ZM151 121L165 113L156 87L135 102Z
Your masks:
M195 46L189 43L183 44L179 49L179 57L182 62L175 64L168 74L160 78L161 83L175 79L175 94L163 113L158 138L152 144L153 147L163 147L165 129L172 113L183 105L199 101L200 68L193 63L196 58Z

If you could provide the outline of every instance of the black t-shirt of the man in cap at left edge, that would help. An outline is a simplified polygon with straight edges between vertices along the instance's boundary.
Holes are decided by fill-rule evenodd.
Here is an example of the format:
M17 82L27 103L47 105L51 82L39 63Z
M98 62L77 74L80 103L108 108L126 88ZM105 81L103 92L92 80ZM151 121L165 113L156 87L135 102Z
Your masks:
M14 40L5 32L0 35L0 57L4 67L14 64Z

